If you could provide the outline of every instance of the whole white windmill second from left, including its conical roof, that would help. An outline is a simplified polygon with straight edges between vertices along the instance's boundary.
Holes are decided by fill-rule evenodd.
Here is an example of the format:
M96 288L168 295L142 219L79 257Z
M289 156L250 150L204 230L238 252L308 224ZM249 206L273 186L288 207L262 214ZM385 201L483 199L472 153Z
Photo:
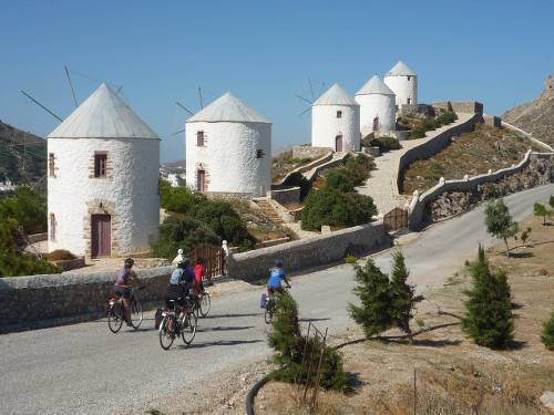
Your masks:
M186 184L197 191L266 196L271 123L230 93L187 120Z

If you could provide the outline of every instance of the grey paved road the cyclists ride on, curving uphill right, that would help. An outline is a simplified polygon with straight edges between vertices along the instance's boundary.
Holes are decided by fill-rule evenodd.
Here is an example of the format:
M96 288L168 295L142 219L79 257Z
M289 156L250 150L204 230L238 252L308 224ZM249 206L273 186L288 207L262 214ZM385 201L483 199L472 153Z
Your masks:
M512 195L506 203L520 220L535 200L551 194L554 185ZM475 255L478 242L491 243L482 224L483 208L479 208L432 226L402 248L420 290L440 287ZM388 269L390 255L381 252L376 260ZM346 312L347 302L353 301L350 266L297 277L293 286L304 319L329 326L331 334L350 323ZM114 413L266 356L260 292L261 288L252 288L215 299L212 317L201 321L194 344L174 345L168 352L160 347L152 320L143 323L144 330L117 335L109 333L105 321L1 335L0 413Z

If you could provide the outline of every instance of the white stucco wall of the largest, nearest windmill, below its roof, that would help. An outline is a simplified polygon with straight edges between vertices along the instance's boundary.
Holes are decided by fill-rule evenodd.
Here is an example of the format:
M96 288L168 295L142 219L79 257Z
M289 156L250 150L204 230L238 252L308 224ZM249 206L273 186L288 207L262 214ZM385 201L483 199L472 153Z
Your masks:
M111 178L90 178L94 152L107 152ZM55 240L49 250L66 249L75 255L90 250L84 240L88 203L112 204L114 253L148 249L160 231L160 141L152 138L49 138L48 153L55 157L55 177L48 178L50 214L55 215ZM90 224L90 218L89 218Z

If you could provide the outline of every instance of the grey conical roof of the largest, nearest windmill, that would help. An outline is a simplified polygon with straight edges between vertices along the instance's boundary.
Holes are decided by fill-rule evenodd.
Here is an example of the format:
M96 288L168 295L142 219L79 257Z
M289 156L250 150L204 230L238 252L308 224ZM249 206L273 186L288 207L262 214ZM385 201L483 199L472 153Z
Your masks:
M48 138L160 137L103 83Z

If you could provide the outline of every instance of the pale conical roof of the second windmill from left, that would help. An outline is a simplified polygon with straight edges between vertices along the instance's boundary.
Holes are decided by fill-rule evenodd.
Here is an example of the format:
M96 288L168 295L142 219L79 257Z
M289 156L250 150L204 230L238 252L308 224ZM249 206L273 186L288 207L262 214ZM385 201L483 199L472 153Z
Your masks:
M204 110L198 111L187 123L207 122L232 122L232 123L266 123L271 122L264 118L254 110L246 106L239 98L227 92L223 96L215 100Z

